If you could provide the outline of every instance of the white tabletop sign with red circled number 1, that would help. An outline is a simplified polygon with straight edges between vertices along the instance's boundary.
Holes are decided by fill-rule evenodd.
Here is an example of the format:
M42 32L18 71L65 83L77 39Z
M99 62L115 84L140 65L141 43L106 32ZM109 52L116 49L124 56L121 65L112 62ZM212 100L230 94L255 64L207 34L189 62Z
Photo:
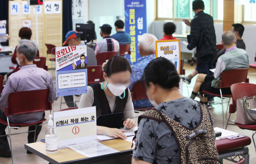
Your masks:
M54 112L58 148L97 139L96 107Z

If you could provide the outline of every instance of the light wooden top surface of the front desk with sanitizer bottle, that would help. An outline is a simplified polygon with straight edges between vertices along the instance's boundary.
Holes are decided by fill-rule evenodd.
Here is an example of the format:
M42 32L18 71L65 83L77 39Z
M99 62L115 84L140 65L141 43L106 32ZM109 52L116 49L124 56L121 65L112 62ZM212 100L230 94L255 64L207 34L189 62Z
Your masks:
M126 150L132 150L132 149L134 149L134 146L135 146L135 144L134 144L133 147L131 148L132 143L128 142L126 140L122 140L122 139L107 140L107 141L102 141L100 143L102 143L110 148L113 148L115 150L118 150L120 152L126 151ZM46 153L44 142L35 142L35 143L25 144L25 145L38 151L41 157L46 156L58 163L88 158L78 152L75 152L74 150L72 150L70 148L62 148L62 149L59 149L56 154L48 154L48 153ZM36 154L36 155L38 155L38 154Z

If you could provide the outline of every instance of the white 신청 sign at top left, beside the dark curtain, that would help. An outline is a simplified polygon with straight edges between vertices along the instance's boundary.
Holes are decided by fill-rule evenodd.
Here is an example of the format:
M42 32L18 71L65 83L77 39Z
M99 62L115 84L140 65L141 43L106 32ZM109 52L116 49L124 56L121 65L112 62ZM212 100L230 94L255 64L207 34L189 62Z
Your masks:
M44 1L44 14L60 14L61 2L60 1Z

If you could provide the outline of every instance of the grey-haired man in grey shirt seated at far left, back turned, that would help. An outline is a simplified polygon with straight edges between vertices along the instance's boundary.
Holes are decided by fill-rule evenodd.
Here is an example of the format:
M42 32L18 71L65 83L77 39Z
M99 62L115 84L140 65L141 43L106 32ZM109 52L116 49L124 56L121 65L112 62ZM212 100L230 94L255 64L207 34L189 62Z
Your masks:
M49 100L54 101L56 90L52 82L52 76L49 72L42 68L37 68L33 64L36 57L38 46L32 40L23 39L17 47L17 62L20 65L20 70L11 74L2 91L0 98L0 119L7 121L5 115L5 107L8 106L8 97L13 92L30 91L30 90L45 90L49 89ZM30 102L28 102L29 104ZM26 114L16 114L8 116L9 122L14 124L26 124L38 122L45 116L44 111L32 112ZM0 123L0 136L6 135L5 128L7 125ZM35 130L36 126L29 126L28 131ZM36 139L40 133L42 126L36 128ZM28 133L28 143L34 142L34 132ZM27 151L28 154L31 152ZM11 151L7 137L0 137L0 157L10 158Z

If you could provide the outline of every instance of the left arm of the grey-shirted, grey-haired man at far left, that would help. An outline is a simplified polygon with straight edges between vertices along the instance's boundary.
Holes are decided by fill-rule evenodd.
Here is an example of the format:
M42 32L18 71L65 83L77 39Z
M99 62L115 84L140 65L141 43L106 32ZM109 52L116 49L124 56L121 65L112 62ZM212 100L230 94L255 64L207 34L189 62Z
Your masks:
M5 112L5 107L8 106L8 97L13 92L14 89L12 87L12 82L9 77L2 91L3 96L0 98L0 110L2 110L2 112Z

